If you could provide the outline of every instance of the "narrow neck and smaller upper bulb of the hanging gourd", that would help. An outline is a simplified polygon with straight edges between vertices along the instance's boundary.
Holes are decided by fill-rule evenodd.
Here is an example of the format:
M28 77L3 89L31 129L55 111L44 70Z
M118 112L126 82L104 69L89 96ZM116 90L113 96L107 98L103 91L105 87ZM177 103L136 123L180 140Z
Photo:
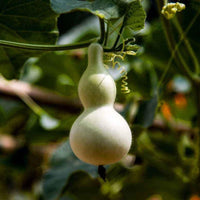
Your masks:
M92 44L88 49L88 67L79 81L78 93L85 109L114 104L116 86L104 67L99 44Z

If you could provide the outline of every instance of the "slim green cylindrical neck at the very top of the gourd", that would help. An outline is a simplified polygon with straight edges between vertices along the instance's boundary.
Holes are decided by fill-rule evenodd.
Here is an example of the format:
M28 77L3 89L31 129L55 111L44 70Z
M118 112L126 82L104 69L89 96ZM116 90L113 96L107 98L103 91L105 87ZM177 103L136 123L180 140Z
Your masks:
M88 49L88 67L103 66L103 48L98 43L93 43Z

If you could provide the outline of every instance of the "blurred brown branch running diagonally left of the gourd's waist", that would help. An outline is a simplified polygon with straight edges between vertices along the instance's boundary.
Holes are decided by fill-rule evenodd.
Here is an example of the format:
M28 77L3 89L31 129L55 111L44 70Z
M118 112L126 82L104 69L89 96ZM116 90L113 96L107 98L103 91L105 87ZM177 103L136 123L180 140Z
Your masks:
M82 109L79 100L70 100L64 95L52 92L51 90L33 86L22 81L5 81L4 79L0 78L1 96L20 100L17 95L20 92L28 95L38 104L56 107L57 109L63 109L69 113L80 112Z

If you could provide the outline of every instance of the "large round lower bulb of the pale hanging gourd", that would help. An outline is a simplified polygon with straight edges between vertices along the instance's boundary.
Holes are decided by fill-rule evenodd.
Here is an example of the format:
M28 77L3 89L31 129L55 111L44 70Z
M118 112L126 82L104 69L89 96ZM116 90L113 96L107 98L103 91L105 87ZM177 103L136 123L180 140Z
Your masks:
M70 131L75 155L93 165L121 160L129 151L132 134L127 122L112 106L86 109Z

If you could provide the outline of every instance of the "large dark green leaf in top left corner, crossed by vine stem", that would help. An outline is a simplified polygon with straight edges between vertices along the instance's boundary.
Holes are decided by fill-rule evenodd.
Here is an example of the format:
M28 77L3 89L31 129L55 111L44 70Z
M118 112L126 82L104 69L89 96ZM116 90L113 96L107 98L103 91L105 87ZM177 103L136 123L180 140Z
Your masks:
M0 40L54 44L56 38L56 15L49 0L0 1ZM0 48L0 55L0 73L13 78L35 52Z

